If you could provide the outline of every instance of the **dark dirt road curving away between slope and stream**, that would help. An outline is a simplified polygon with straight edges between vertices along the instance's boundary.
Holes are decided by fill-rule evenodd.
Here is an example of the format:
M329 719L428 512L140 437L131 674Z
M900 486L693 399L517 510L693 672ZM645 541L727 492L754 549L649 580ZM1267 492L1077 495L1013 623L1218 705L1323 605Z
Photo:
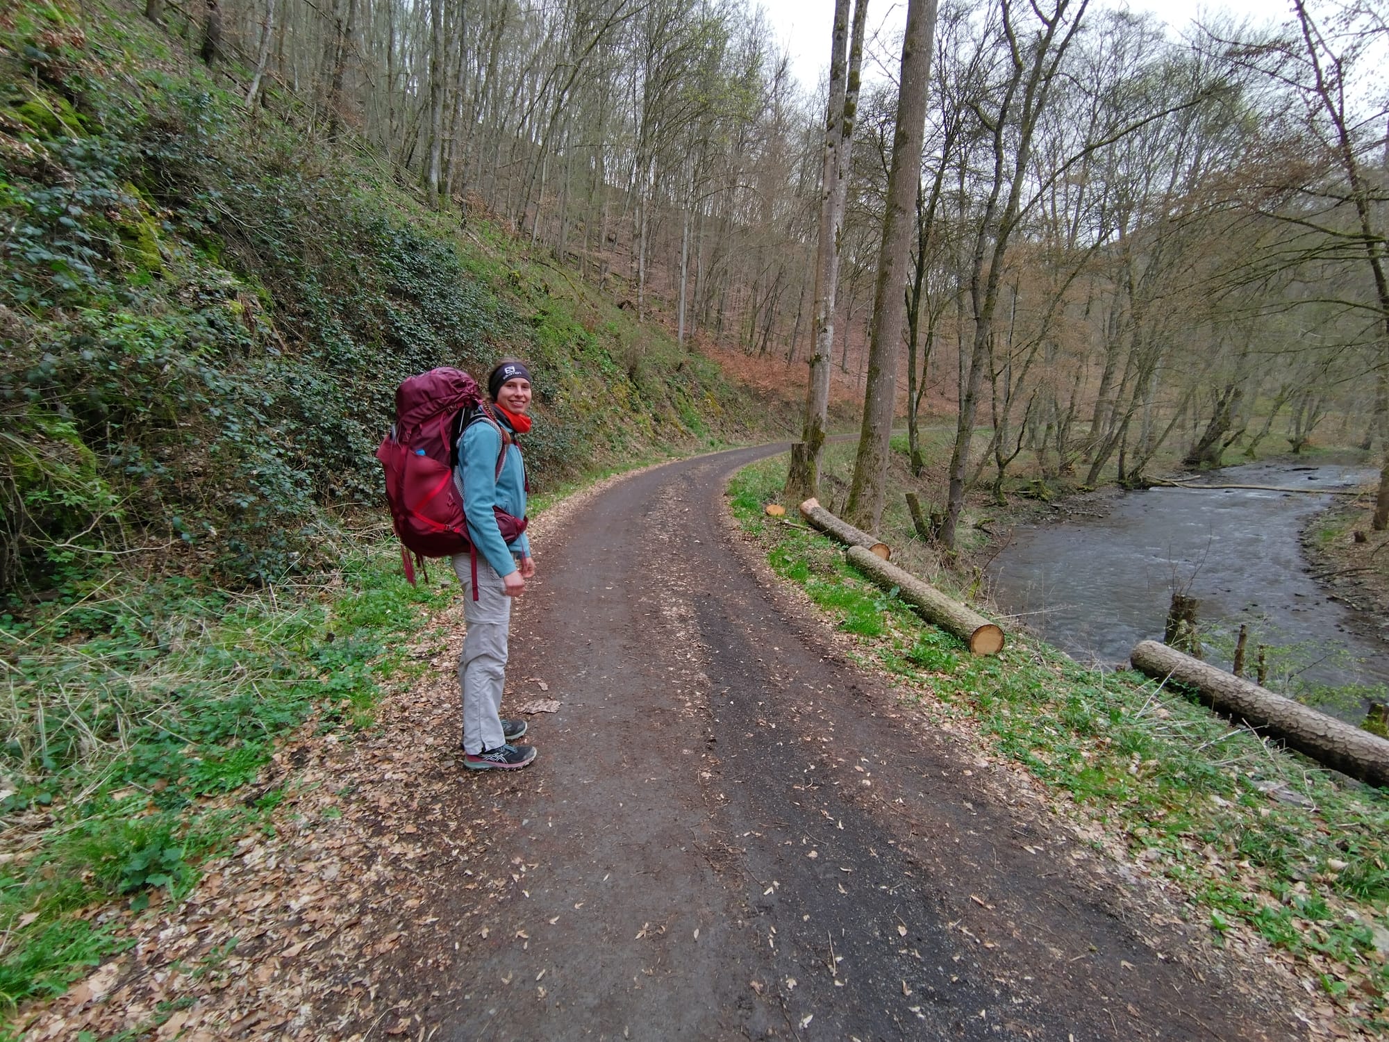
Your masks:
M635 475L539 547L508 677L561 706L533 767L453 789L504 885L432 913L431 1038L1300 1036L751 578L722 486L782 449Z

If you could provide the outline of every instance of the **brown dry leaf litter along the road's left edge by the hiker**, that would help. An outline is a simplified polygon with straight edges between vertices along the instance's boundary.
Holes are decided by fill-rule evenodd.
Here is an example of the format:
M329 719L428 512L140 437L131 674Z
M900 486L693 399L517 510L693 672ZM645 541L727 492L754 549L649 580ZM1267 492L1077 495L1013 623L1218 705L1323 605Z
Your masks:
M490 809L474 804L504 792L461 785L453 679L461 639L458 603L413 649L431 674L415 686L397 682L371 731L315 735L313 720L300 728L249 786L285 788L269 825L204 861L181 902L157 891L143 913L94 910L129 949L67 993L21 1009L11 1025L28 1042L79 1032L183 1042L419 1034L419 979L446 978L460 935L421 909L440 904L429 898L447 885L475 898L460 914L486 914L519 895L526 868L500 860L496 875L483 874ZM558 706L538 700L521 711ZM485 925L469 929L489 935Z

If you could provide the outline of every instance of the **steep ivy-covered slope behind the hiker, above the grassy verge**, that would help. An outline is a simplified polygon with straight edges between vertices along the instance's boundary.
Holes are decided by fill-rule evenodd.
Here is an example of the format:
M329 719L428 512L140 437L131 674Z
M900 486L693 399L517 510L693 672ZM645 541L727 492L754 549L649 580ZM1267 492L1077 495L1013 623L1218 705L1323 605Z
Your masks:
M321 508L378 502L392 390L431 365L536 364L540 477L704 436L729 402L486 224L247 115L135 11L3 18L6 588L68 540L172 542L229 582L321 564Z

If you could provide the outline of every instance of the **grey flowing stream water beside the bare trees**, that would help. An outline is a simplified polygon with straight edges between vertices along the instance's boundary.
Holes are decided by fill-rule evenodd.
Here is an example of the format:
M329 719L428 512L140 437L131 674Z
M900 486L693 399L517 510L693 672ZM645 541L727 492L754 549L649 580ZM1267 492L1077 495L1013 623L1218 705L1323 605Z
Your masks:
M1375 477L1364 467L1249 464L1208 481L1356 488ZM1203 629L1228 635L1250 624L1250 664L1257 640L1292 646L1275 653L1281 668L1318 685L1389 684L1389 620L1329 600L1297 542L1331 499L1253 489L1128 492L1104 518L1017 529L989 568L993 596L1074 657L1118 664L1139 640L1163 639L1172 589L1185 588L1200 599ZM1228 638L1215 645L1207 660L1228 667ZM1354 717L1354 706L1345 714Z

